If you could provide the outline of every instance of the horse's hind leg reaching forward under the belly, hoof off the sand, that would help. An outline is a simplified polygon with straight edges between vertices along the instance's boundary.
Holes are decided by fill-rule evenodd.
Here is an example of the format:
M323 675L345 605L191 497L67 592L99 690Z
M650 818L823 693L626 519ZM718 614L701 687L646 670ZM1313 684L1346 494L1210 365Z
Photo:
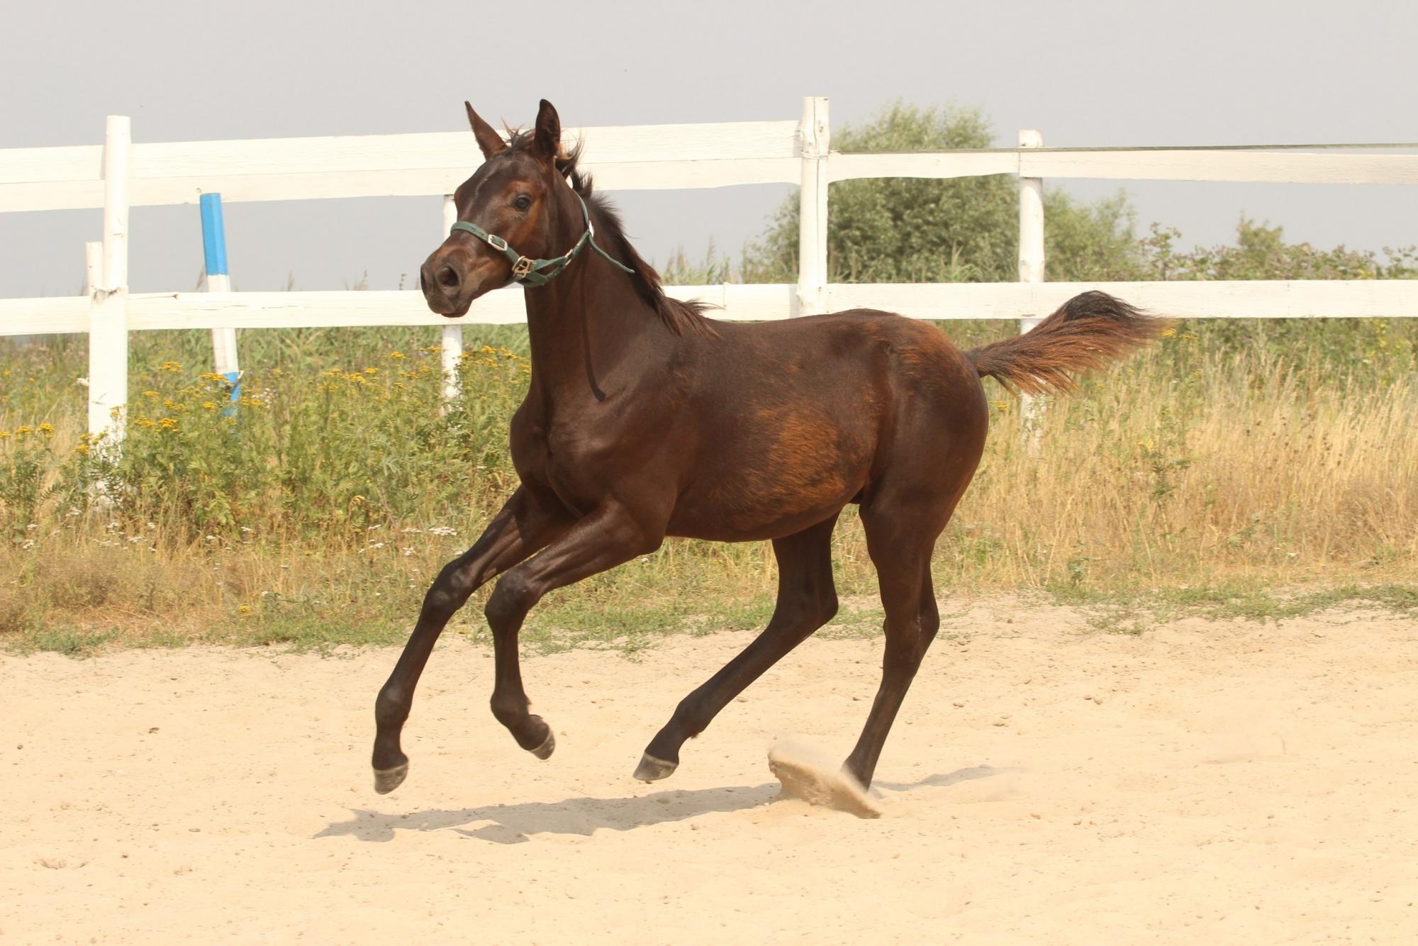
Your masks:
M703 732L719 711L837 614L832 584L832 528L837 516L774 539L778 597L769 625L737 657L685 696L645 749L635 769L641 781L665 779L679 766L679 749Z

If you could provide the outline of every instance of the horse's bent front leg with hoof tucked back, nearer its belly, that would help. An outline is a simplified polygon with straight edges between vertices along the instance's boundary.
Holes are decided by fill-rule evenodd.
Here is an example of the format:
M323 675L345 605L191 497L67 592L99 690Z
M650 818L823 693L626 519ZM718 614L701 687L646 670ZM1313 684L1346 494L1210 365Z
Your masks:
M496 667L492 715L508 728L519 746L537 759L552 755L556 739L546 720L527 712L529 702L522 688L518 635L527 611L547 591L654 552L662 540L662 529L647 528L624 508L608 505L577 522L542 555L498 580L484 610L492 628Z

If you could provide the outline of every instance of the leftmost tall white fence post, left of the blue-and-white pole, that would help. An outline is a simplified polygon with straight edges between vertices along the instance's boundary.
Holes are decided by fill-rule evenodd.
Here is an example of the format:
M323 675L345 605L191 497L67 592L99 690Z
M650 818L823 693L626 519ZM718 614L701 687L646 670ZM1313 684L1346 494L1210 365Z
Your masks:
M104 128L104 275L89 311L89 433L123 437L128 404L128 184L132 123L109 115ZM119 411L115 414L115 411Z

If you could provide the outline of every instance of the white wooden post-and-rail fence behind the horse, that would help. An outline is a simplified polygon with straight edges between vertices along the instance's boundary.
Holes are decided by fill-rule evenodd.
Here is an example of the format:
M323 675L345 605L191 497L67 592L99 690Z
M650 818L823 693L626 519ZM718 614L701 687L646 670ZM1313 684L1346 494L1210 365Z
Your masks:
M1112 282L1044 281L1042 179L1418 184L1418 155L1282 148L1046 149L915 155L830 149L825 98L803 99L798 121L569 129L605 190L801 187L797 285L669 286L725 319L784 319L852 306L922 319L1034 319L1083 289L1103 289L1181 318L1418 316L1418 281ZM1366 146L1374 150L1375 146ZM444 326L455 363L459 323L525 321L522 294L479 299L461 319L430 312L418 292L128 291L128 213L135 206L450 194L481 156L468 132L135 145L129 119L108 119L104 145L0 150L0 213L104 208L102 254L89 254L86 296L0 299L0 335L89 333L89 428L112 425L128 400L128 332L142 329ZM828 184L856 177L1020 177L1020 282L828 284ZM448 204L444 230L451 223ZM434 245L430 226L430 248ZM75 247L75 254L78 247Z

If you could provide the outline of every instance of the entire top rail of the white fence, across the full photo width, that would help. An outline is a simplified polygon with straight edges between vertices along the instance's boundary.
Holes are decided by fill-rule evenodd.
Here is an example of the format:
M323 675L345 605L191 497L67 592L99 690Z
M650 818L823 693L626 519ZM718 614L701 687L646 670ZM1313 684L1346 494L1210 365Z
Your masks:
M798 122L569 129L605 190L795 184ZM132 146L133 207L224 201L447 194L482 162L467 132L170 142ZM1224 149L1003 149L825 155L830 182L861 177L1194 180L1418 184L1418 155ZM0 150L0 213L104 206L104 148Z

